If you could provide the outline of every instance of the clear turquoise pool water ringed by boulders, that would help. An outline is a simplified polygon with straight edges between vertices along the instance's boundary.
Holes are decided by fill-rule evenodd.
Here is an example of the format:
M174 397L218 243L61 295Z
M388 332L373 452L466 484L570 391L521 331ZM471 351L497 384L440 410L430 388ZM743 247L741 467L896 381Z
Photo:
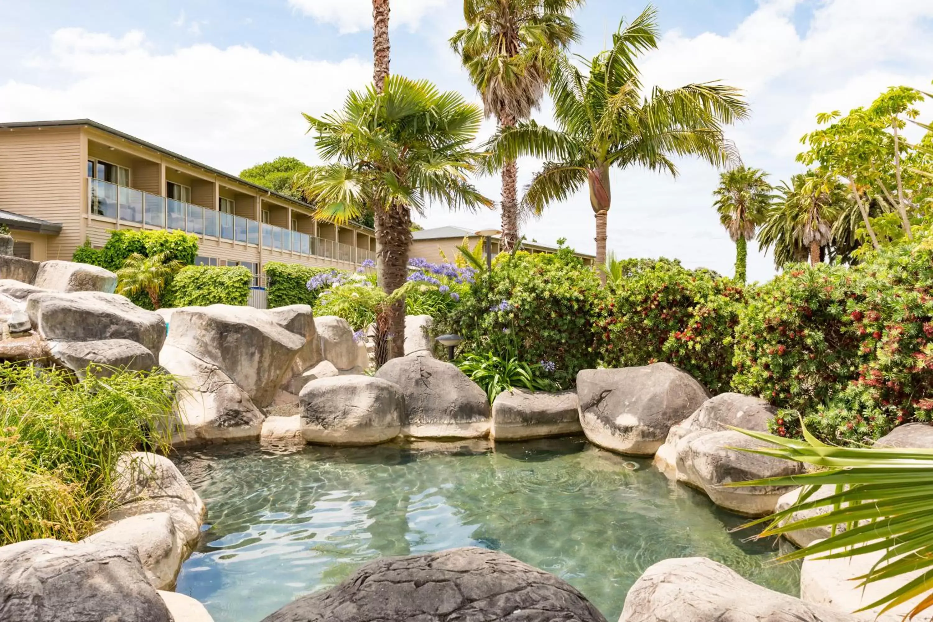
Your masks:
M190 451L177 463L208 522L177 590L216 622L256 622L368 560L485 546L563 577L611 622L639 574L671 557L712 558L797 595L800 570L769 563L773 542L729 531L743 518L647 462L626 462L578 438Z

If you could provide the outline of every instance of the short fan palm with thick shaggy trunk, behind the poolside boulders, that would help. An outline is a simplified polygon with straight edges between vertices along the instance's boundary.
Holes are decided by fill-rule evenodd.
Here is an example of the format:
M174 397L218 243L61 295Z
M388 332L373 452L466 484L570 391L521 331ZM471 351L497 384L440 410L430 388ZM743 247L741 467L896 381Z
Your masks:
M388 76L379 93L373 85L350 91L343 107L324 117L304 116L328 164L313 169L300 186L314 198L316 216L337 224L375 209L377 276L392 293L408 276L411 210L428 201L452 209L492 207L469 183L484 154L471 148L482 121L480 106L426 80ZM377 364L404 355L405 301L391 305L377 322ZM392 352L385 350L385 338Z

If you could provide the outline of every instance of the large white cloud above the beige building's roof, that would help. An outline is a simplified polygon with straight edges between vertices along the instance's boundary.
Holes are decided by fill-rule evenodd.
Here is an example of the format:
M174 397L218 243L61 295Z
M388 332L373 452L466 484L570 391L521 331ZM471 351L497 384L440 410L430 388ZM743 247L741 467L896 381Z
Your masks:
M237 173L280 155L313 160L301 112L339 106L369 80L367 62L319 62L256 48L197 45L150 51L146 37L63 29L34 66L54 86L0 84L0 119L92 118ZM327 88L322 88L327 85Z

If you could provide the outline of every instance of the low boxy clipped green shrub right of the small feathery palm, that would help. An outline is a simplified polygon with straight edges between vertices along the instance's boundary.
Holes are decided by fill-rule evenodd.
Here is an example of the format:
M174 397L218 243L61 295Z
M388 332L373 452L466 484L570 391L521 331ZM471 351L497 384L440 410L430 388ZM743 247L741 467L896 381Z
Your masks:
M186 266L163 296L166 307L245 305L253 275L243 266Z

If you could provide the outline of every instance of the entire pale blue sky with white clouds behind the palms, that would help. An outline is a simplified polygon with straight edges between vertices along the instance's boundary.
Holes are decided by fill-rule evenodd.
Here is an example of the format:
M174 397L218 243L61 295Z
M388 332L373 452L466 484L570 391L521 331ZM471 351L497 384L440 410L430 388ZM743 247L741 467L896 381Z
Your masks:
M392 72L427 78L480 104L448 38L457 0L392 0ZM900 84L929 90L933 0L658 0L661 41L640 66L647 87L721 80L744 90L752 114L727 130L748 166L778 183L815 115L847 111ZM592 56L644 0L589 0L575 15ZM189 158L238 173L277 156L320 161L301 113L339 107L371 80L370 0L161 0L76 3L0 0L0 123L91 118ZM535 117L550 123L550 104ZM933 106L925 105L926 119ZM482 136L494 129L483 125ZM519 162L527 182L539 162ZM612 173L608 248L666 256L730 274L735 247L712 207L718 172L692 159L679 175ZM477 180L498 199L494 177ZM432 205L425 228L498 228L499 214ZM529 240L564 237L593 253L585 192L527 223ZM771 257L749 252L748 276Z

